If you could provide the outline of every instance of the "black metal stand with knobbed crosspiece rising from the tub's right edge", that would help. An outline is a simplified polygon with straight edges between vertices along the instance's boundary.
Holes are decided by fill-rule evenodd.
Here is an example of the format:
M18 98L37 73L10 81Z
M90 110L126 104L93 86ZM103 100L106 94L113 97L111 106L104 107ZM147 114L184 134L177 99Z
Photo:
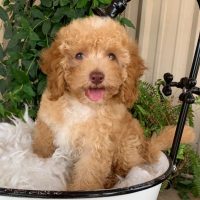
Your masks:
M182 94L179 96L179 99L183 102L183 104L181 107L181 112L179 115L176 133L175 133L175 137L174 137L174 141L173 141L173 145L171 149L171 154L170 154L170 157L174 165L176 164L176 157L177 157L178 148L180 145L188 109L189 109L190 104L194 103L195 101L193 94L200 95L200 88L195 87L196 78L199 71L199 66L200 66L200 36L198 38L197 47L196 47L189 78L184 77L180 80L180 82L172 82L173 76L171 74L166 73L164 75L164 80L166 82L166 85L163 87L163 93L166 96L169 96L171 94L171 87L177 87L177 88L183 89Z

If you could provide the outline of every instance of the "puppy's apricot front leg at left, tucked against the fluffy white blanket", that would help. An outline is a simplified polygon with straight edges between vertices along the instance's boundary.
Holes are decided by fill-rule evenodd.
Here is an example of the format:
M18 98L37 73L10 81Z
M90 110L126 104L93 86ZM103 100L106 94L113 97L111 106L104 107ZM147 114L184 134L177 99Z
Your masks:
M55 151L53 134L49 127L40 120L36 122L32 147L34 153L44 158L51 157Z

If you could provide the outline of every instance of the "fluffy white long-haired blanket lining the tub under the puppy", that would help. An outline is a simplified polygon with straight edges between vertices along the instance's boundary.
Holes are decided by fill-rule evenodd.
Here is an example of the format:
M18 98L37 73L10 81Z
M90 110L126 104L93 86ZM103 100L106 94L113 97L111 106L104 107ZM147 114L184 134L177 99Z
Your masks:
M26 111L24 121L13 118L13 124L0 123L0 187L32 190L66 190L72 166L70 155L57 149L53 156L42 159L31 149L34 122ZM158 163L132 168L115 188L150 181L168 169L161 153Z

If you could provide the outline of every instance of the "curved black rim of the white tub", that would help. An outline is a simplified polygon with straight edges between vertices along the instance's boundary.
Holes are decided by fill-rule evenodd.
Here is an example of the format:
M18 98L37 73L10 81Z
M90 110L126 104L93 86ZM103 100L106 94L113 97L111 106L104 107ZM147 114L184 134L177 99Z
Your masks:
M84 199L84 198L98 198L98 197L110 197L118 195L126 195L130 193L140 192L145 189L152 188L161 184L171 174L173 169L172 160L166 156L169 162L169 167L165 173L161 176L147 181L142 184L137 184L130 187L116 188L116 189L104 189L96 191L43 191L43 190L24 190L24 189L12 189L12 188L0 188L0 196L10 197L28 197L28 198L49 198L49 199Z

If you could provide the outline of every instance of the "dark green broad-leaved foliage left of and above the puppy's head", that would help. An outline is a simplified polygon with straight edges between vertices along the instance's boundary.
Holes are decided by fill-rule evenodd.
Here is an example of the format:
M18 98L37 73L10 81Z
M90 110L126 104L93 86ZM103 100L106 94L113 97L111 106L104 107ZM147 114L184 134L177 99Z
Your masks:
M31 117L46 85L39 70L41 49L48 47L58 29L71 20L92 14L92 8L106 6L111 0L41 0L40 5L27 0L4 0L0 19L5 26L0 45L0 119L22 117L24 104ZM9 13L9 14L8 14Z

